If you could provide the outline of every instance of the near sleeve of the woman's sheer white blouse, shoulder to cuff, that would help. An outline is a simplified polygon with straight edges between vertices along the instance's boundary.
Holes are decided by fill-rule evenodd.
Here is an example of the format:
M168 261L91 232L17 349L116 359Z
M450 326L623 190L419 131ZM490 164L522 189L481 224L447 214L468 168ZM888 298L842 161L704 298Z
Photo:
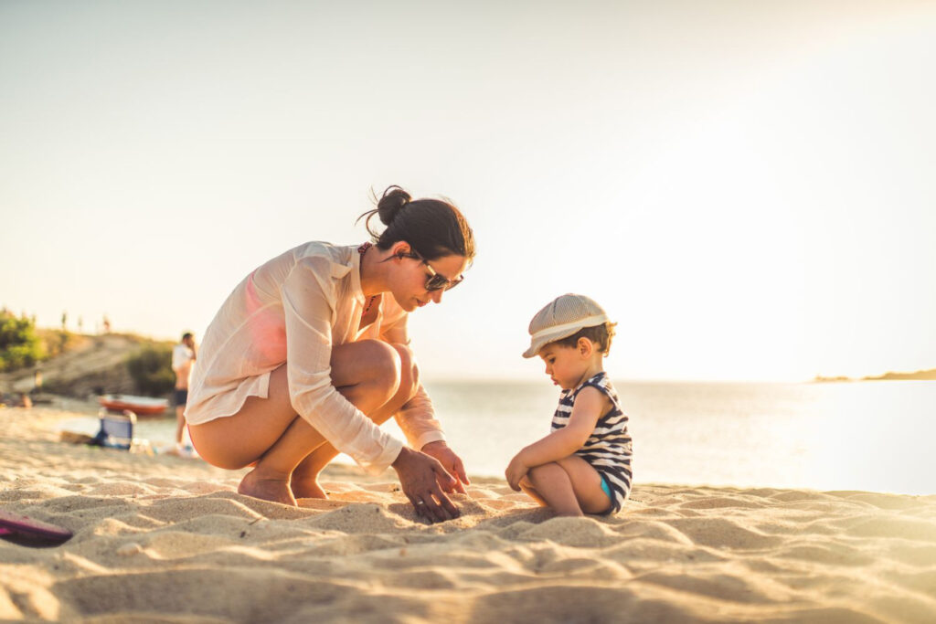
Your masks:
M402 443L377 427L331 385L334 283L327 258L300 259L281 286L286 367L293 408L366 471L383 472Z

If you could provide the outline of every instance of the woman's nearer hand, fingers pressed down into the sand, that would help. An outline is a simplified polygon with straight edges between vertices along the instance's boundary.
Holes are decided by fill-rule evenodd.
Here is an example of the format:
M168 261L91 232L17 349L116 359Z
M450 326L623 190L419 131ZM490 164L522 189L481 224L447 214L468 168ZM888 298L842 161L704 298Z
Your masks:
M393 469L400 477L403 494L413 503L417 515L430 522L444 522L458 517L459 510L449 501L439 482L455 481L434 457L403 446Z

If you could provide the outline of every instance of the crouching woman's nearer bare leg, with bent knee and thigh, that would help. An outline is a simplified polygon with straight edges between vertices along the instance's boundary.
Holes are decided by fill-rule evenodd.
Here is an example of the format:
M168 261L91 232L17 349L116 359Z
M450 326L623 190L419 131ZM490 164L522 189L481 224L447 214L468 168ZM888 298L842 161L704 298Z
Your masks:
M267 399L251 397L238 414L193 426L190 435L199 454L215 466L237 469L256 462L241 481L241 493L296 504L290 475L326 441L293 410L287 366L271 373ZM365 414L381 414L379 408L399 394L400 368L399 352L382 341L340 345L331 354L332 383Z

